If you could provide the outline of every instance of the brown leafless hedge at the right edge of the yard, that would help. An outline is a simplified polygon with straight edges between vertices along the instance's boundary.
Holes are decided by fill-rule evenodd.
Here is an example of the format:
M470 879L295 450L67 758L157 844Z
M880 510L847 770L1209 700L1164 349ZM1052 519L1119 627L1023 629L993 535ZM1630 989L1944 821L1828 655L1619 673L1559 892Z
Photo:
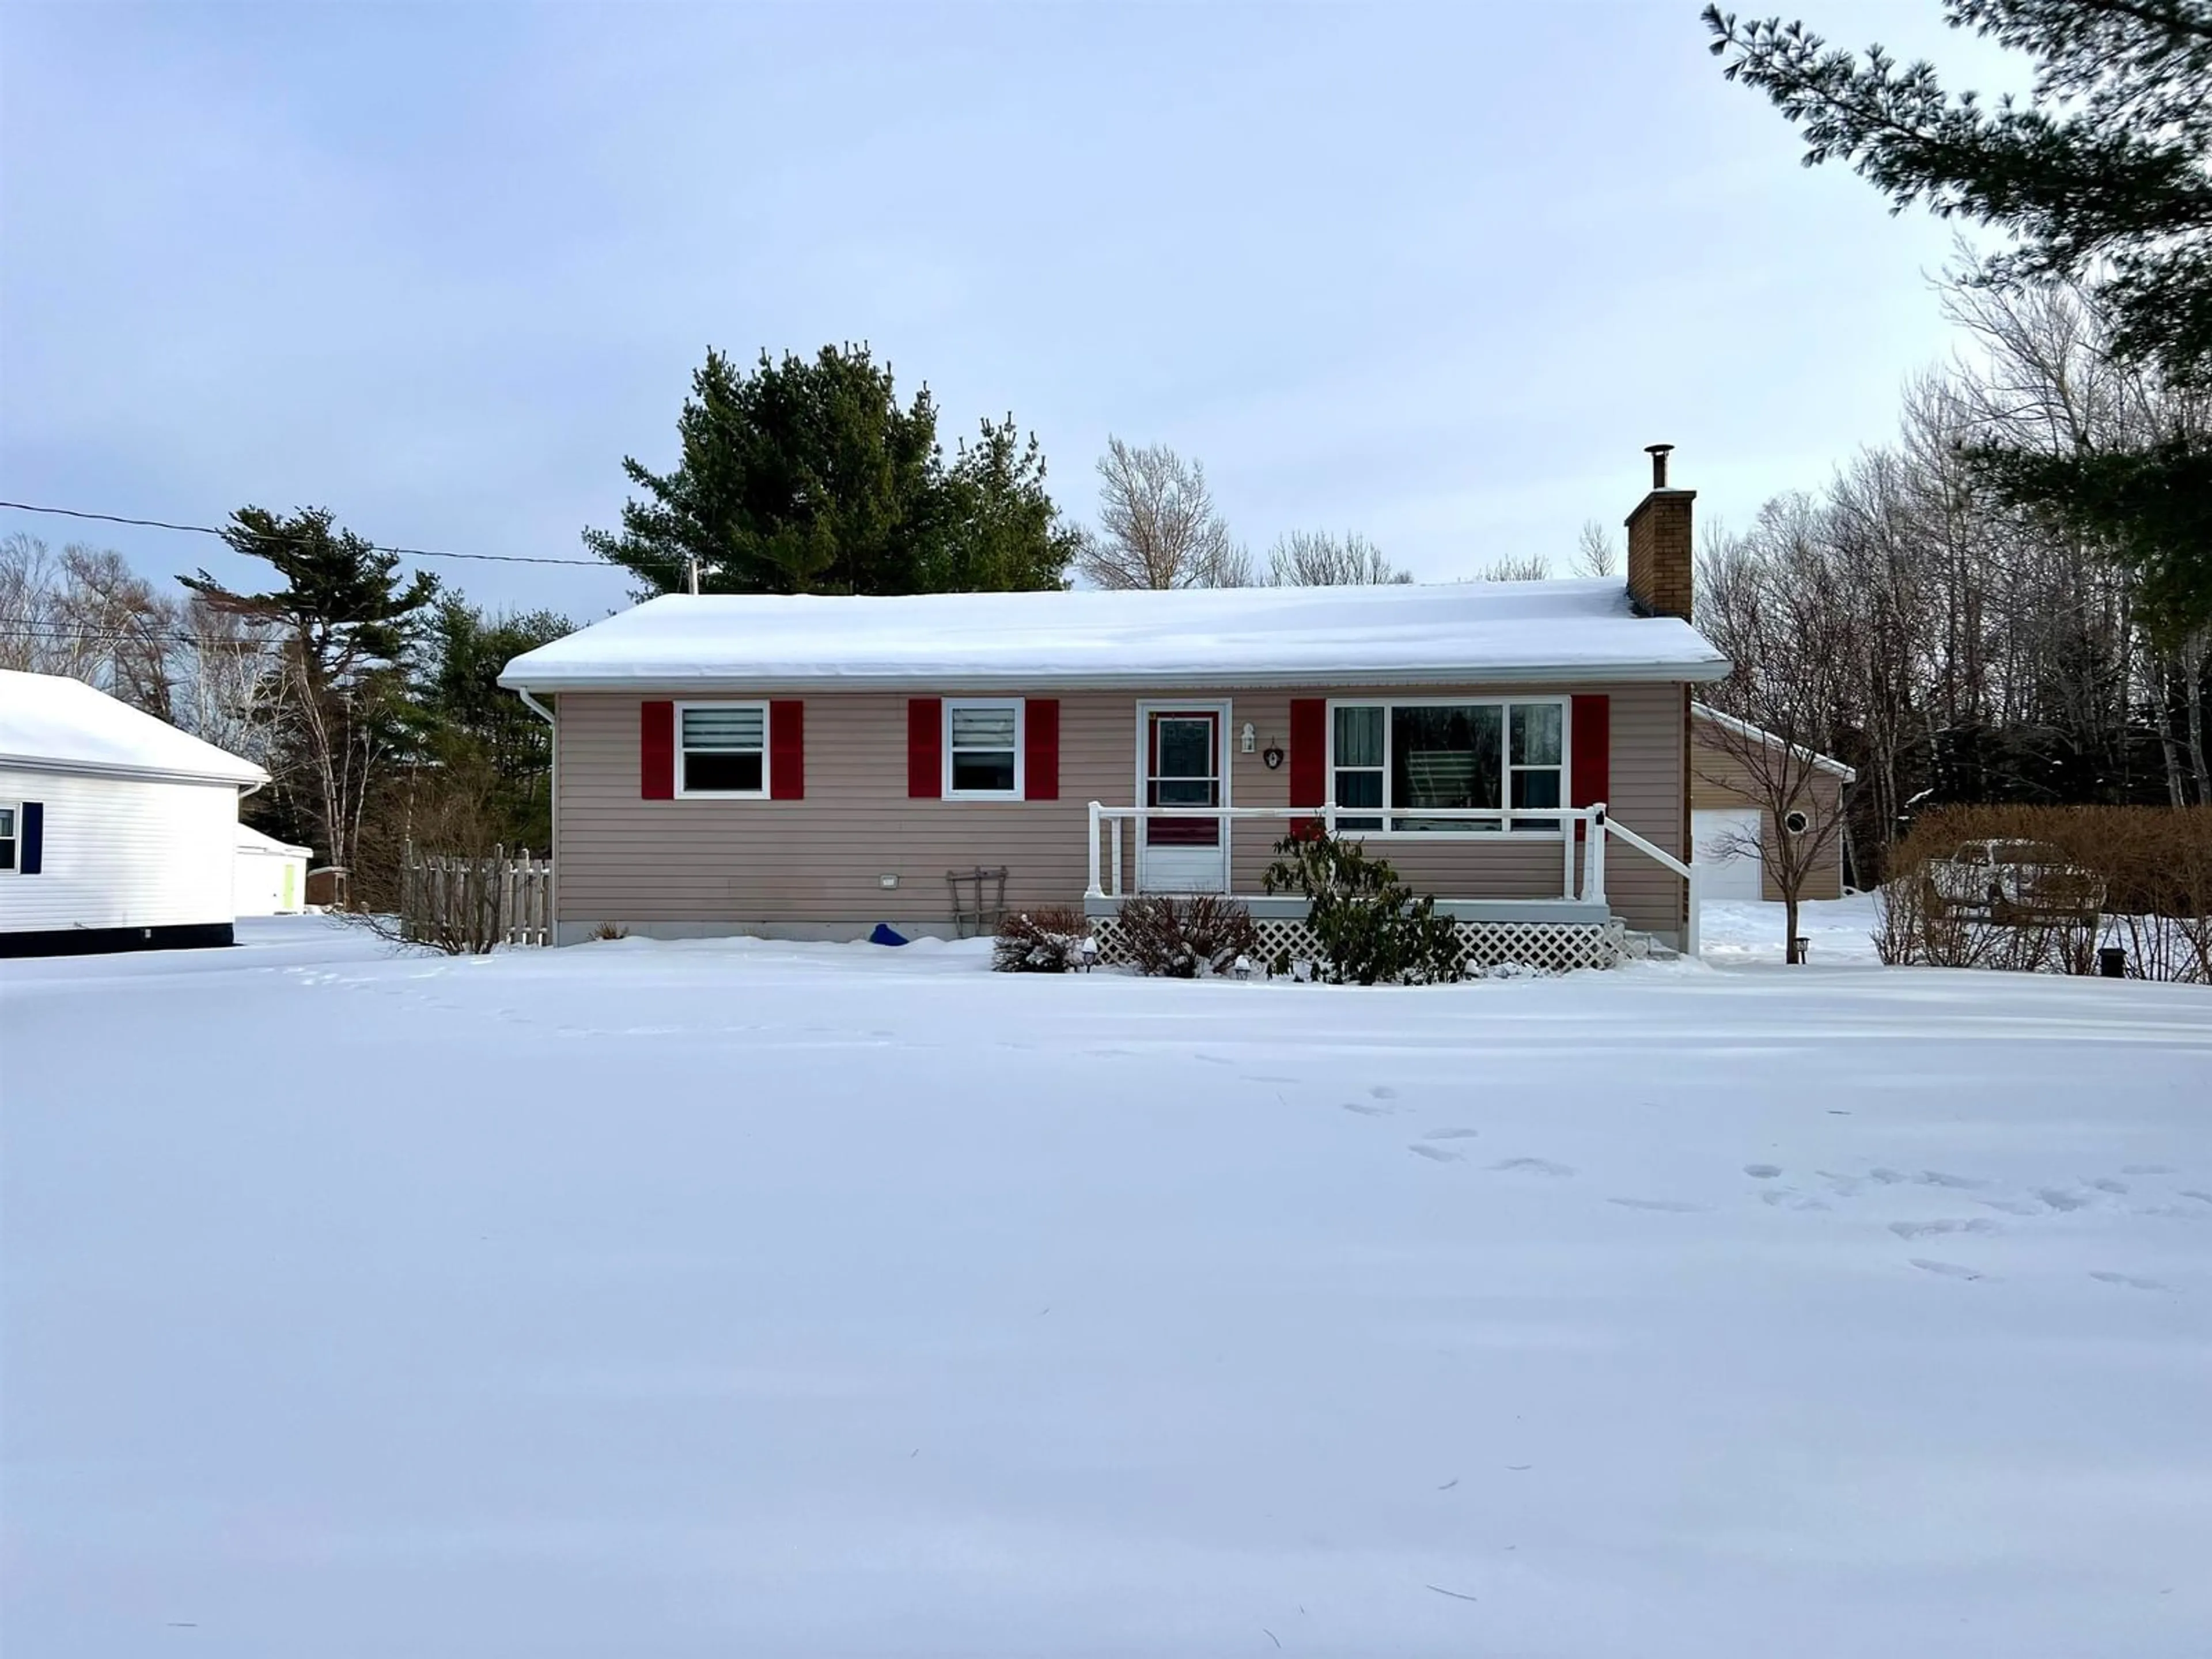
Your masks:
M1955 914L1929 865L1969 841L2035 841L2104 887L2097 916ZM2148 980L2212 984L2212 807L1960 805L1922 814L1889 860L1874 936L1885 962L2093 973L2117 945Z

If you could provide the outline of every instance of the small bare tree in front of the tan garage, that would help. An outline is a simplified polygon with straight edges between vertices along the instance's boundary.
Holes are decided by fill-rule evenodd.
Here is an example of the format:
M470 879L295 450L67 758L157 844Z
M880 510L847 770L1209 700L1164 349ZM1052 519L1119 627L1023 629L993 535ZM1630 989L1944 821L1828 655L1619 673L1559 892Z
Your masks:
M1699 628L1734 672L1712 688L1699 779L1747 799L1772 841L1730 836L1721 856L1756 856L1783 896L1783 958L1798 951L1798 905L1843 836L1840 792L1814 787L1832 721L1851 690L1858 611L1847 568L1816 540L1816 507L1781 500L1750 535L1712 549L1699 571Z

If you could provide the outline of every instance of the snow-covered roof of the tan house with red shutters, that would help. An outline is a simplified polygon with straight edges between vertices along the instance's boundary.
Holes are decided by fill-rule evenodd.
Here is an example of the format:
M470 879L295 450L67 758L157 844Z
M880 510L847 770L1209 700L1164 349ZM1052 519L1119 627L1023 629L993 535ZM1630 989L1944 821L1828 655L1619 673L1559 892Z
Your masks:
M1619 582L1177 593L666 595L507 664L522 690L1719 679Z

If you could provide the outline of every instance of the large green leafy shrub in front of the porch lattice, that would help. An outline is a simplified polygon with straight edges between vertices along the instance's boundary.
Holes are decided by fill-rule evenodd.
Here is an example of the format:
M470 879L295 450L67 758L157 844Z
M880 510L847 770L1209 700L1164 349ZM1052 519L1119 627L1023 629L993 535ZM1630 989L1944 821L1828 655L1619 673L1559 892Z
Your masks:
M1436 900L1413 898L1398 872L1369 858L1358 841L1321 825L1298 825L1274 843L1267 891L1305 894L1307 927L1321 945L1321 978L1329 984L1440 984L1460 978L1460 925L1436 914ZM1285 953L1287 956L1287 953ZM1283 956L1281 969L1290 969Z

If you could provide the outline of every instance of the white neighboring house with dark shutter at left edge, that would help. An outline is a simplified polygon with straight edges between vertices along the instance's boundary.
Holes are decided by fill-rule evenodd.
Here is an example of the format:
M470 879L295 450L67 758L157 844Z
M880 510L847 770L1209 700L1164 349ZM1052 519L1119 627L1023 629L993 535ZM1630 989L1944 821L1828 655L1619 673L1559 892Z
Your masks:
M0 956L232 942L268 774L58 675L0 670Z

